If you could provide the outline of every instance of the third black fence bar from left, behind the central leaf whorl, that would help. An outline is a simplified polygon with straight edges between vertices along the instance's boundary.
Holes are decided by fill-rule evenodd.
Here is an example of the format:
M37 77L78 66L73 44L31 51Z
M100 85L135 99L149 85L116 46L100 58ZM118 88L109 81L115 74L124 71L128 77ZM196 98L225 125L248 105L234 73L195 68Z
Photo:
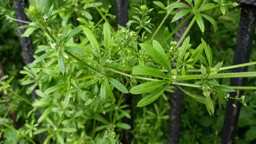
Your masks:
M186 3L186 1L181 1ZM183 10L184 8L178 8L177 12ZM186 19L187 15L176 21L176 26L179 26L180 23ZM174 35L174 40L179 41L181 36L184 34L185 30L188 27L189 22L183 25ZM178 45L179 47L180 45ZM174 87L174 93L171 94L170 100L171 109L169 111L169 136L168 144L178 144L180 139L180 129L181 129L181 111L183 107L183 92L177 87Z

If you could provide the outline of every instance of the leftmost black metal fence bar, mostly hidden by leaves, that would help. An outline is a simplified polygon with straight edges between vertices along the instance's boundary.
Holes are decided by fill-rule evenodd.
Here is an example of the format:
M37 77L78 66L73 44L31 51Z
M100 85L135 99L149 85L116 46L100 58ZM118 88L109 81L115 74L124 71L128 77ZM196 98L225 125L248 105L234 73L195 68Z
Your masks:
M18 20L28 21L27 15L25 14L25 10L24 10L25 1L23 1L23 0L14 0L13 4L14 4L15 12L16 12L16 18ZM27 24L18 21L18 26L19 27L24 26L24 25L27 25ZM25 29L23 29L23 28L18 29L18 30L19 30L20 36L23 33L25 33ZM21 44L21 47L22 47L22 51L25 55L25 63L26 63L26 65L28 65L28 63L32 63L35 60L34 57L33 57L34 49L33 49L33 45L32 45L32 42L31 42L31 38L30 37L20 37L20 44ZM33 83L30 84L30 85L33 85ZM37 88L35 88L35 89L37 89ZM38 96L35 92L35 89L32 91L33 100L38 98ZM41 116L41 113L40 113L39 110L36 110L36 116L37 116L37 118L39 118ZM42 123L40 123L39 126L42 127ZM45 134L41 133L41 137L42 137L42 141L44 141L45 140Z

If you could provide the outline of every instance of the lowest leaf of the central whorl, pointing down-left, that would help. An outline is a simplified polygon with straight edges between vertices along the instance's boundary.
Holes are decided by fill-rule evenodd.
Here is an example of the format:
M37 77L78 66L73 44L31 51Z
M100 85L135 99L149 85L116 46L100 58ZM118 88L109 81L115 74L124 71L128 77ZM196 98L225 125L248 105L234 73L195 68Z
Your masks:
M152 92L149 95L147 95L145 98L141 99L138 102L137 107L144 107L144 106L149 105L153 101L155 101L167 89L168 86L169 86L169 84L167 84L164 87L161 87L161 88L155 90L154 92Z

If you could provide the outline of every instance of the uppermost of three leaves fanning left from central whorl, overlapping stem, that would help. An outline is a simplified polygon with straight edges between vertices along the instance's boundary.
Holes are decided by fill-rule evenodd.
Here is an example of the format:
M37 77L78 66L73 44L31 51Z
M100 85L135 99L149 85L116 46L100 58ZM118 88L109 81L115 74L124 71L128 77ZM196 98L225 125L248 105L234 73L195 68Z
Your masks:
M134 75L144 75L144 76L154 76L154 77L161 77L165 79L170 79L170 76L164 74L162 71L146 67L146 66L135 66L132 69L132 74Z

